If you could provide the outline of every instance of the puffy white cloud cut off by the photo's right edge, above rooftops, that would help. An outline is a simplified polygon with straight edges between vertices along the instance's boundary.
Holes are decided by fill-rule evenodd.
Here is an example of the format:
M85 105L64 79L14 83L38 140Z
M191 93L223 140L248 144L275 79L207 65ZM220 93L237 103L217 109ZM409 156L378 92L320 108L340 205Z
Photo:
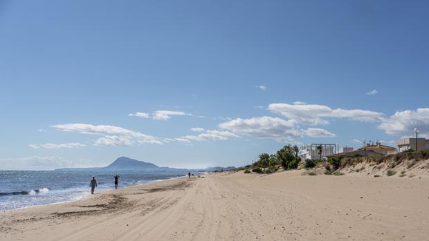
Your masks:
M388 135L413 136L414 128L421 137L429 137L429 108L397 111L378 125Z

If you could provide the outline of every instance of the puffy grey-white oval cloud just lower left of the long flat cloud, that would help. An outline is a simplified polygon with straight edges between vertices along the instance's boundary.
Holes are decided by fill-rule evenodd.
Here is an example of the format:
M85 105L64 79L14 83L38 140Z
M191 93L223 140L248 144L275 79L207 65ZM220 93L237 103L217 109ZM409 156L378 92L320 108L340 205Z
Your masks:
M229 122L219 124L219 127L238 135L251 135L278 140L291 140L301 136L301 131L295 128L293 122L268 116L232 119Z

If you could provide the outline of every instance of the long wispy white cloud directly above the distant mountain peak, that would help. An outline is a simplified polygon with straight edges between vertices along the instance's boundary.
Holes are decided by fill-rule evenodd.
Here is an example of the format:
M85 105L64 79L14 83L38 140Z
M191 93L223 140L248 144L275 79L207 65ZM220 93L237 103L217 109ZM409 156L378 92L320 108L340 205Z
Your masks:
M104 136L104 139L98 139L96 141L95 144L98 144L98 145L109 144L112 146L113 143L119 144L119 142L122 142L122 144L127 144L129 142L133 144L143 144L143 143L162 144L161 140L158 137L153 137L152 135L145 135L143 133L139 133L136 131L130 131L126 128L122 128L118 126L109 126L109 125L95 126L92 124L73 123L73 124L58 124L51 127L65 132L75 132L75 133L82 133L82 134L88 134L88 135ZM129 142L125 141L125 139L120 140L118 139L118 137L128 139Z

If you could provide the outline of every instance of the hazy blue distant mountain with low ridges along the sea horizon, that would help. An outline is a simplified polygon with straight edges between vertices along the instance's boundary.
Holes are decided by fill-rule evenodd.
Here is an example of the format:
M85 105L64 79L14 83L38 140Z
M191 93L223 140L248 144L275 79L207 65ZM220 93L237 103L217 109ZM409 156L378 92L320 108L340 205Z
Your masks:
M104 167L89 167L89 168L59 168L55 171L228 171L234 169L235 166L221 167L210 166L203 169L185 169L156 166L150 162L142 162L128 157L119 157L109 166Z

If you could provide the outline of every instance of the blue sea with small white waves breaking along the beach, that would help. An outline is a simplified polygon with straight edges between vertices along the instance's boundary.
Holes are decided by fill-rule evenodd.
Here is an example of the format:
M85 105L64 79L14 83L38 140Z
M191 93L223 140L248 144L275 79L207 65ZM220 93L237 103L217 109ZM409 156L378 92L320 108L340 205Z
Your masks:
M77 200L91 193L89 182L95 176L96 191L114 189L113 175L120 175L119 187L166 180L183 172L62 172L0 171L0 210Z

